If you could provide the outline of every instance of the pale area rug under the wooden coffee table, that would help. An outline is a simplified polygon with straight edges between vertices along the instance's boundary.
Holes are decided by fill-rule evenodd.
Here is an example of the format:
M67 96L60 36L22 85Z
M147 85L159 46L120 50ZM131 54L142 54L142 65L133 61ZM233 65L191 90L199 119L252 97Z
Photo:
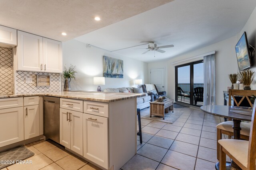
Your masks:
M160 121L160 122L164 122L164 123L174 123L181 115L182 115L183 111L174 111L174 113L172 113L172 111L169 111L169 113L166 113L163 117L160 116L155 116L152 115L152 117L150 117L150 114L143 116L141 119L147 119L147 120L152 120L152 121Z

